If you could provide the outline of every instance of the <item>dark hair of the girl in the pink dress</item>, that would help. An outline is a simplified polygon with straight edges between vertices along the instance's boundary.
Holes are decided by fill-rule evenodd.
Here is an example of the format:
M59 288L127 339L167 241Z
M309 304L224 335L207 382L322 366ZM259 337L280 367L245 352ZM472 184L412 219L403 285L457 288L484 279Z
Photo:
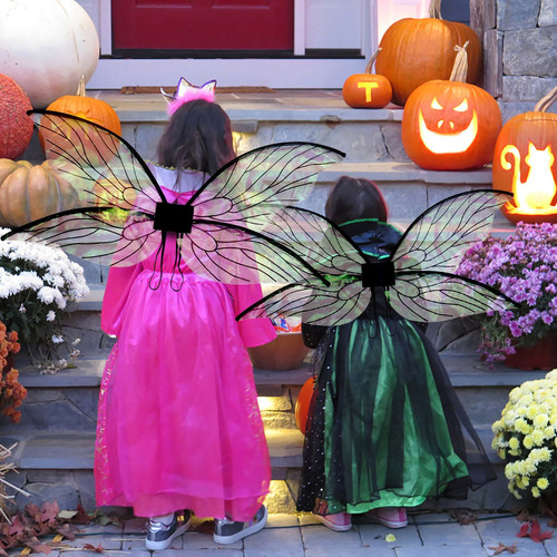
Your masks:
M203 99L185 102L174 113L157 148L159 165L207 174L235 156L228 115Z

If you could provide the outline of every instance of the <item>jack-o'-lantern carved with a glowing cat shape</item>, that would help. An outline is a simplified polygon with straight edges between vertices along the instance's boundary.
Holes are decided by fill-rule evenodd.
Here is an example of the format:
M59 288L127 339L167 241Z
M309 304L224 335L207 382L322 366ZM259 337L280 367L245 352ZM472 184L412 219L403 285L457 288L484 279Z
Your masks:
M494 188L512 192L502 207L512 223L557 222L557 114L547 109L557 99L557 87L534 111L510 118L497 138Z

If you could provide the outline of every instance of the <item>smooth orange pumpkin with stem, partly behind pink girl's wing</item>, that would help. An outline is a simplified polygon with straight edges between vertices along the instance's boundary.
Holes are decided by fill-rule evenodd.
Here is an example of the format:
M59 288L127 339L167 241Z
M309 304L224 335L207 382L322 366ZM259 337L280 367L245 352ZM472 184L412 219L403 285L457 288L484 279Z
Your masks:
M104 100L87 97L81 77L76 95L65 95L50 102L47 110L70 114L108 128L121 136L121 124L116 110Z

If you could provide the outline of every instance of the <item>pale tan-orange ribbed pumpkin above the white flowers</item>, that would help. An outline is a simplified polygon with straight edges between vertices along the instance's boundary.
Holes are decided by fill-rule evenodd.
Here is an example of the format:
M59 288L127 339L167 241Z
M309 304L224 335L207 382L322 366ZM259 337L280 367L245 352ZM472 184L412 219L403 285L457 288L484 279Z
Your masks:
M0 159L0 226L31 221L78 206L77 190L53 172L50 163Z

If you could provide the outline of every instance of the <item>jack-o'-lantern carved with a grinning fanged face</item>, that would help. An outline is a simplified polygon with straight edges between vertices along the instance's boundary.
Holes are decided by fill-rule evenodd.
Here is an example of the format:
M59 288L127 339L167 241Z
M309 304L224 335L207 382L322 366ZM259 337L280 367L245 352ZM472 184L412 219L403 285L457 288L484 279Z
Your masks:
M491 162L501 113L491 95L463 82L466 47L456 47L450 80L421 85L404 106L402 145L422 168L463 170Z

